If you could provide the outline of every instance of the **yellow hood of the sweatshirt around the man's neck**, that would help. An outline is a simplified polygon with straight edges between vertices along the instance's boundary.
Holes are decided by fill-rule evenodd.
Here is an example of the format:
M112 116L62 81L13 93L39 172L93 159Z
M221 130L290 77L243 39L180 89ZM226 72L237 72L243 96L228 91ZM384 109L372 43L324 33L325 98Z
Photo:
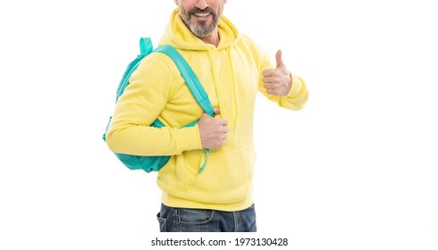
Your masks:
M217 50L226 49L236 44L240 39L239 31L230 20L222 16L218 23L218 33L221 37ZM161 38L159 45L171 45L181 50L206 50L208 45L196 37L185 23L181 20L180 10L176 8L167 25L164 36Z

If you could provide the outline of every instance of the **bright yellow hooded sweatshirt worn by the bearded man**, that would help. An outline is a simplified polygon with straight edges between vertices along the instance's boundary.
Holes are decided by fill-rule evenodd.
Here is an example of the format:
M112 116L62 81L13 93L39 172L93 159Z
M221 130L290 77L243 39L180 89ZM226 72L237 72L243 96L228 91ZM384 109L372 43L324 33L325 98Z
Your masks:
M160 44L174 46L198 75L214 107L220 108L230 129L224 146L211 150L206 160L198 125L181 128L203 113L181 78L173 61L161 53L147 56L132 74L130 85L119 98L106 134L112 151L136 155L173 155L158 172L162 202L173 207L239 211L253 201L252 179L256 154L253 115L257 90L282 107L299 110L307 102L307 87L292 75L288 96L265 93L262 71L273 69L270 56L232 22L219 21L219 46L195 37L172 14ZM149 127L158 118L166 126Z

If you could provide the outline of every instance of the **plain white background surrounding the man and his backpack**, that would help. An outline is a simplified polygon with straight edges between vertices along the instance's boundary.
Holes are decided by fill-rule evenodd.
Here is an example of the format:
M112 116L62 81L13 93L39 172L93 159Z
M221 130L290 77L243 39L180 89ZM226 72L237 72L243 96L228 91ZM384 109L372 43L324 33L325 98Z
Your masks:
M8 3L8 4L4 4ZM0 7L0 248L147 249L156 174L101 139L115 88L175 5ZM258 236L292 249L438 249L434 1L230 0L228 16L307 81L300 112L257 100Z

